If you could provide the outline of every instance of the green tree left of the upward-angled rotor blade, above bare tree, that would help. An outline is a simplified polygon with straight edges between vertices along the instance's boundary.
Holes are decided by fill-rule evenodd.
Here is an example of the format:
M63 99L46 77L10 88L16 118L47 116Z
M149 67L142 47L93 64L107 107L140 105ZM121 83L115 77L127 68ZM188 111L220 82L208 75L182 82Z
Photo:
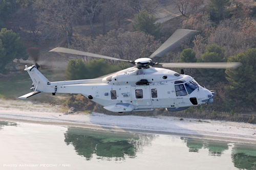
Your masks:
M160 37L161 24L155 23L156 19L153 15L148 15L146 10L140 11L139 14L135 14L135 21L133 23L133 29L135 31L143 31L147 34L154 35L156 38Z

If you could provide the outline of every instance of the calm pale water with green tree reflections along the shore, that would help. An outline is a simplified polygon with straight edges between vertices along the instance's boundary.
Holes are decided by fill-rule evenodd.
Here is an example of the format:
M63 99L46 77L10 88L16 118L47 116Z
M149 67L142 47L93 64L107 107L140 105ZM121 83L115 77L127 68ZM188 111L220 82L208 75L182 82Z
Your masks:
M256 169L252 144L0 122L0 169Z

